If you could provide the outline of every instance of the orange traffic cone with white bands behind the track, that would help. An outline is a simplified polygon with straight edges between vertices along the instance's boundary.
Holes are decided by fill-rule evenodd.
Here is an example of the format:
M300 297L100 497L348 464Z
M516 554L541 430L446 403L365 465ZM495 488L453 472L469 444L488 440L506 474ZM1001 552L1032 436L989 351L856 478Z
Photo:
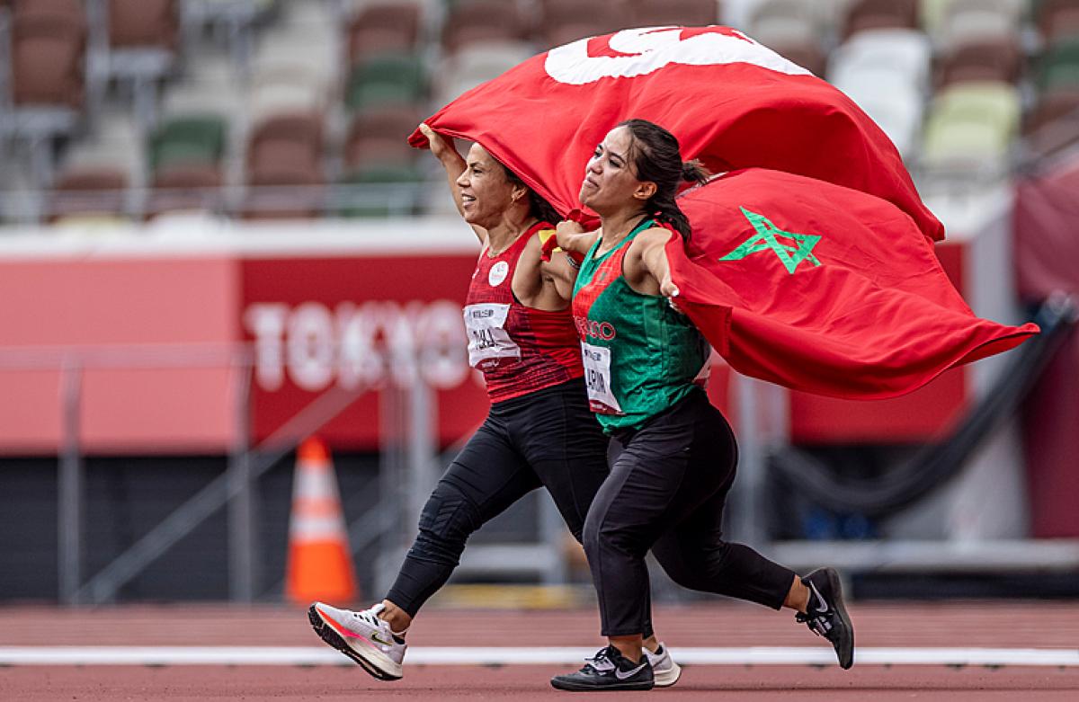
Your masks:
M297 451L287 570L285 595L297 604L349 603L357 597L333 465L326 444L315 437Z

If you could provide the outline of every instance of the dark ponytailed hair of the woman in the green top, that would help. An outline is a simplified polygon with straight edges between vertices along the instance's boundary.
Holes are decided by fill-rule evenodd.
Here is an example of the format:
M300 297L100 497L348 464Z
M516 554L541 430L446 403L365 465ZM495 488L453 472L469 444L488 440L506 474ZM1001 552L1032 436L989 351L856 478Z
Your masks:
M678 139L658 124L647 120L626 120L618 126L627 127L633 137L629 157L638 179L656 183L656 193L645 203L646 211L688 239L689 220L674 202L674 196L682 182L707 181L708 170L697 160L682 163Z

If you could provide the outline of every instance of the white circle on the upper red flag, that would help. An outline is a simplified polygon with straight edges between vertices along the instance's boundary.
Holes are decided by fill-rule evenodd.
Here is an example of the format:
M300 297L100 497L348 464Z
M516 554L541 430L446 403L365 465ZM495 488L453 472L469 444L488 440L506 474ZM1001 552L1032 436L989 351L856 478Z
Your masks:
M547 52L544 69L559 83L585 85L602 78L633 78L667 66L714 66L753 64L780 73L811 75L810 71L787 60L746 35L706 31L682 39L682 27L644 27L624 29L607 40L607 45L623 56L589 56L588 39L558 46Z

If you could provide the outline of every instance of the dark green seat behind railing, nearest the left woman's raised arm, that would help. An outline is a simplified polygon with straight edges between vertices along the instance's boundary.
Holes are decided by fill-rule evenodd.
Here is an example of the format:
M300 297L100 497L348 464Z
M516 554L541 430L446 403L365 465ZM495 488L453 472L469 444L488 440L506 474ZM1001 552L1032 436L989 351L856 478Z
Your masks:
M415 166L370 164L340 180L334 210L350 218L418 215L423 181Z

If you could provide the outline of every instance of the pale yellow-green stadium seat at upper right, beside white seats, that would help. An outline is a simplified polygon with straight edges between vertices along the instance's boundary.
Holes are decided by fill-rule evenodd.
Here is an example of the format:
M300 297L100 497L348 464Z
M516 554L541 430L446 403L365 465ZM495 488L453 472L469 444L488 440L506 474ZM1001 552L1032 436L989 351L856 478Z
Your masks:
M1000 166L1019 130L1020 99L1003 82L970 82L940 93L930 106L921 157L930 168Z

